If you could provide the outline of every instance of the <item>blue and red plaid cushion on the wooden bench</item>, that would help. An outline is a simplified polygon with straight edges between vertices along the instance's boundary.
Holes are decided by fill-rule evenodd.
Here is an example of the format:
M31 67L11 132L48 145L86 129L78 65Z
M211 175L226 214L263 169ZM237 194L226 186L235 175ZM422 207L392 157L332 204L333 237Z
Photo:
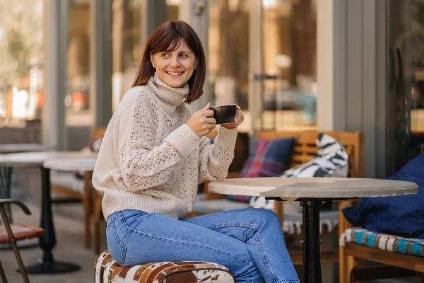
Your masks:
M273 177L283 173L290 166L294 140L294 138L255 139L239 177ZM227 195L227 198L238 202L249 202L251 197Z

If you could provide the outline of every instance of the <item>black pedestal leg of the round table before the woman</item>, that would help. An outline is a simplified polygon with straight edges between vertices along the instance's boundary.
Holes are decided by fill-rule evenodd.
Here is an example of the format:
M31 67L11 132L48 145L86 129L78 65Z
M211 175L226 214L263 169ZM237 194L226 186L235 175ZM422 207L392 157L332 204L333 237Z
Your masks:
M321 200L302 200L303 283L322 283L319 251L319 208Z

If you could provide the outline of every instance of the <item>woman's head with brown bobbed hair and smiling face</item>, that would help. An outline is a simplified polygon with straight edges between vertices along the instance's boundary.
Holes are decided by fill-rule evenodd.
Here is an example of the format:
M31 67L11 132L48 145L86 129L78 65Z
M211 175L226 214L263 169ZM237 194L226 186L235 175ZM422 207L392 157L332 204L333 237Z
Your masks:
M187 103L202 95L206 59L201 41L190 25L167 21L153 31L132 87L146 85L155 72L168 86L181 87L187 82Z

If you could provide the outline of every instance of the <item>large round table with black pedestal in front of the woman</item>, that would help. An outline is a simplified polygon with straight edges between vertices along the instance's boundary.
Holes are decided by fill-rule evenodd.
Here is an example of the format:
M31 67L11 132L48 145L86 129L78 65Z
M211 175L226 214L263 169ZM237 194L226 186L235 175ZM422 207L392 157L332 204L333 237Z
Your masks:
M393 197L418 192L418 185L366 178L237 178L211 182L209 191L271 200L300 201L303 213L303 283L322 283L319 258L319 207L323 200Z

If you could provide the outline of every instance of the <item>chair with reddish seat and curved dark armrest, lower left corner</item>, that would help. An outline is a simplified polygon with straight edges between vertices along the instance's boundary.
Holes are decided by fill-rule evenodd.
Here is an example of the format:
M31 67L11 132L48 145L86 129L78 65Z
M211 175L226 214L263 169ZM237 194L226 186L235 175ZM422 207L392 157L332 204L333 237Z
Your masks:
M31 212L30 209L28 209L28 207L23 204L23 202L12 199L0 199L0 214L4 223L4 225L0 225L0 243L11 243L16 261L18 261L20 274L23 277L23 282L28 283L30 280L28 279L22 258L20 257L18 246L16 246L16 241L42 236L45 231L44 229L33 227L28 224L10 224L8 216L6 215L6 209L4 208L5 204L18 204L18 206L23 210L23 212L25 212L25 214L30 215ZM1 262L0 278L2 282L7 283L6 275L4 274Z

